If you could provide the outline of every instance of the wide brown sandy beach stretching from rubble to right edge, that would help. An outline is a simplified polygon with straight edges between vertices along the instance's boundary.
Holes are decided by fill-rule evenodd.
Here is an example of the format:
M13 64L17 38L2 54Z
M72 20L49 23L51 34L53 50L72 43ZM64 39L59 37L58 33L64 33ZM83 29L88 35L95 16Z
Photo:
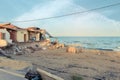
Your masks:
M84 80L120 80L120 52L84 49L82 53L75 54L67 53L64 48L12 57L30 62L65 80L72 80L73 75Z

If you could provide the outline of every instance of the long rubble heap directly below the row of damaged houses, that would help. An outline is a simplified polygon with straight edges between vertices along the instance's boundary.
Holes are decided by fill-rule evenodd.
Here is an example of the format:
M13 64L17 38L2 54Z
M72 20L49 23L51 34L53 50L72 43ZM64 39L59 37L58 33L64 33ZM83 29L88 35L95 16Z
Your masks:
M64 44L61 44L58 41L51 42L49 39L46 39L41 42L12 43L9 45L4 40L3 44L0 43L0 46L2 46L0 48L0 54L5 57L8 57L8 54L22 55L34 53L35 51L38 50L64 48Z

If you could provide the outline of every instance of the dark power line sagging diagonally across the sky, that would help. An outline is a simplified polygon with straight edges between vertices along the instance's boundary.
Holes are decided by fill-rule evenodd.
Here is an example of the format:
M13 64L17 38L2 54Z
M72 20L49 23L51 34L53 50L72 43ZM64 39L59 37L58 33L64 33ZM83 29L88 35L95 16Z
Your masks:
M31 20L23 20L23 21L10 21L13 23L17 23L17 22L31 22L31 21L38 21L38 20L47 20L47 19L53 19L53 18L60 18L60 17L66 17L66 16L71 16L71 15L76 15L76 14L81 14L81 13L86 13L86 12L92 12L92 11L96 11L96 10L100 10L100 9L105 9L105 8L109 8L109 7L113 7L113 6L117 6L120 5L120 3L115 3L115 4L111 4L111 5L107 5L107 6L102 6L102 7L98 7L98 8L93 8L90 10L85 10L85 11L80 11L80 12L74 12L74 13L69 13L69 14L64 14L64 15L59 15L59 16L52 16L52 17L46 17L46 18L39 18L39 19L31 19ZM1 21L2 23L4 23L4 21Z

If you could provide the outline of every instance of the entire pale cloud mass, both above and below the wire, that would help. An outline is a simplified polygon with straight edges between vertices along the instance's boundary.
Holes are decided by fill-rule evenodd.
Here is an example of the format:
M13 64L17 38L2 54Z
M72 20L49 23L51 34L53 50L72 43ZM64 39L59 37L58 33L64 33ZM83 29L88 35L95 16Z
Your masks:
M54 0L43 6L36 5L14 20L31 20L87 10L73 0ZM42 26L55 36L119 36L120 22L97 13L83 13L58 19L18 23L23 26Z

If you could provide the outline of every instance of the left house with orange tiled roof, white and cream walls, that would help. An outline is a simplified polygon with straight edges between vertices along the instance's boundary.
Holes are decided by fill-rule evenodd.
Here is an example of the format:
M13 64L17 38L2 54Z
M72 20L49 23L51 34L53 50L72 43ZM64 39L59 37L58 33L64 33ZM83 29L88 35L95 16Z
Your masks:
M5 34L2 34L2 36L3 35L6 36L8 42L28 42L28 30L27 29L17 27L11 23L1 24L1 27L7 30L7 32ZM8 39L10 39L11 41Z

